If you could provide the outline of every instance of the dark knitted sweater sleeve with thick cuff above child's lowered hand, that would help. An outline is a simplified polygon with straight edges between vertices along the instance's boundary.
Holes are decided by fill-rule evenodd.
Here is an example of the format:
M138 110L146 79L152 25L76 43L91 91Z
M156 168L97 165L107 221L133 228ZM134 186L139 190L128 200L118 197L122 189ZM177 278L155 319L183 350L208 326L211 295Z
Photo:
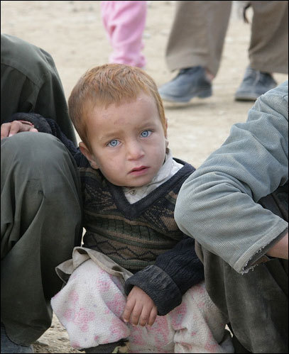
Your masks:
M187 289L204 280L202 262L195 253L195 240L184 238L174 248L136 272L125 284L126 295L133 286L140 287L156 304L158 315L164 316L182 302Z

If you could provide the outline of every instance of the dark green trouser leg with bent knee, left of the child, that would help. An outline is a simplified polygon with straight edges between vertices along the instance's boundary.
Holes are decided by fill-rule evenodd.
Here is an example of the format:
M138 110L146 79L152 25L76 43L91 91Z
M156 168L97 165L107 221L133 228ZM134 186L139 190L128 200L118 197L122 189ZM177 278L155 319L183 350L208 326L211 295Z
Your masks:
M1 140L1 322L11 341L31 344L50 327L50 298L62 286L55 266L81 235L80 179L60 140Z

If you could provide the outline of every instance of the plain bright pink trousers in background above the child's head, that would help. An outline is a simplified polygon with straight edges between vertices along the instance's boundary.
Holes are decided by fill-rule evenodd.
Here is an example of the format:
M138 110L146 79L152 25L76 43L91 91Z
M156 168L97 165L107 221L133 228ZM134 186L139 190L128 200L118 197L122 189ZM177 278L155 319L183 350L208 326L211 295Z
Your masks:
M101 1L102 21L113 51L109 62L145 67L146 1Z

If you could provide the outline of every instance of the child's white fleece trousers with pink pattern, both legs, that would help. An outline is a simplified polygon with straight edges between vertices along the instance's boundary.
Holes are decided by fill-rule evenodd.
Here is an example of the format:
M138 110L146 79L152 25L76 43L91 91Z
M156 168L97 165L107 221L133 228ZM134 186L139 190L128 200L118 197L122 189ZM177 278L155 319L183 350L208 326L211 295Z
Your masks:
M187 290L182 304L157 316L153 326L131 326L121 318L124 279L89 259L72 272L51 305L77 349L128 338L129 353L234 353L225 320L204 282Z

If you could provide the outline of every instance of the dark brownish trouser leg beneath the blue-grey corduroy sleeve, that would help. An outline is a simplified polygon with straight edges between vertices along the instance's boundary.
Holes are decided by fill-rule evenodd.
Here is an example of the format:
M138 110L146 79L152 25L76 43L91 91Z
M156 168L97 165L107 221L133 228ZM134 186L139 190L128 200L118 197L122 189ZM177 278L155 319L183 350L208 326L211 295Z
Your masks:
M269 260L241 275L200 244L197 255L209 297L234 333L235 353L288 353L288 260Z

